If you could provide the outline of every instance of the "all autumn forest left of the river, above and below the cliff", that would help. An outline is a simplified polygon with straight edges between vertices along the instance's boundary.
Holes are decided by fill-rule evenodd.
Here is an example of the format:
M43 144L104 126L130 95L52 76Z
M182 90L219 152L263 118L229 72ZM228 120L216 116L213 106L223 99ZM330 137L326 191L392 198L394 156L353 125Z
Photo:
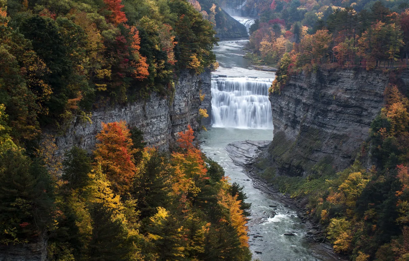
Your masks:
M0 244L47 241L55 261L251 260L243 187L190 126L162 152L102 123L92 153L63 160L49 131L171 97L181 70L216 62L214 34L184 0L0 0Z

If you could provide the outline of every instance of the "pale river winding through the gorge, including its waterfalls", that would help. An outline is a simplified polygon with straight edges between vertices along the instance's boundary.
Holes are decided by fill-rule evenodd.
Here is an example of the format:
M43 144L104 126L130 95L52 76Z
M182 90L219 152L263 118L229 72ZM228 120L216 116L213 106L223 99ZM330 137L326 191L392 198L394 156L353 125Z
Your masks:
M248 25L248 20L241 19L241 23L246 22ZM308 229L297 217L297 211L256 188L252 178L232 162L225 150L227 144L232 142L273 138L267 90L275 75L250 67L242 51L247 42L248 39L220 41L219 46L214 48L220 67L212 75L213 126L200 134L202 151L224 168L231 182L244 186L244 192L249 197L247 202L252 203L249 234L262 236L249 238L254 259L334 260L308 241ZM284 233L295 235L285 236Z

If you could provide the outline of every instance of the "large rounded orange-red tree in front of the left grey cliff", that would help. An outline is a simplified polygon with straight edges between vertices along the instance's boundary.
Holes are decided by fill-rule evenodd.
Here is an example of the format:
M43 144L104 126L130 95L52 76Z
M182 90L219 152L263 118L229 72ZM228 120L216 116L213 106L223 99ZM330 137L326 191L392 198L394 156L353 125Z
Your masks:
M126 121L102 123L97 135L95 160L101 164L116 191L124 192L129 187L136 172L132 149L132 139Z

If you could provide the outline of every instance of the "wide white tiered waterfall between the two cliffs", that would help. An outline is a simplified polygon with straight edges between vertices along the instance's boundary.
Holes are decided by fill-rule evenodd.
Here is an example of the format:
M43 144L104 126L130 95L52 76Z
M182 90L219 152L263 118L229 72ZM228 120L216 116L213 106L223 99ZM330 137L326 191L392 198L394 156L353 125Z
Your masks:
M213 127L272 129L268 88L273 79L211 75Z

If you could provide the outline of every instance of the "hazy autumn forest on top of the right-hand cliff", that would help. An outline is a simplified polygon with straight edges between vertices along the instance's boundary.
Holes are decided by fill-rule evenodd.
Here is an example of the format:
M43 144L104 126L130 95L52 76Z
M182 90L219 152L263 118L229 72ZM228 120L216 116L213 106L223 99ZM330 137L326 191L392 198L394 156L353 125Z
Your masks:
M283 79L272 86L277 91L292 73L328 63L368 70L407 65L408 7L407 1L258 1L260 19L250 29L253 54L247 57L272 65L281 61L277 75Z

